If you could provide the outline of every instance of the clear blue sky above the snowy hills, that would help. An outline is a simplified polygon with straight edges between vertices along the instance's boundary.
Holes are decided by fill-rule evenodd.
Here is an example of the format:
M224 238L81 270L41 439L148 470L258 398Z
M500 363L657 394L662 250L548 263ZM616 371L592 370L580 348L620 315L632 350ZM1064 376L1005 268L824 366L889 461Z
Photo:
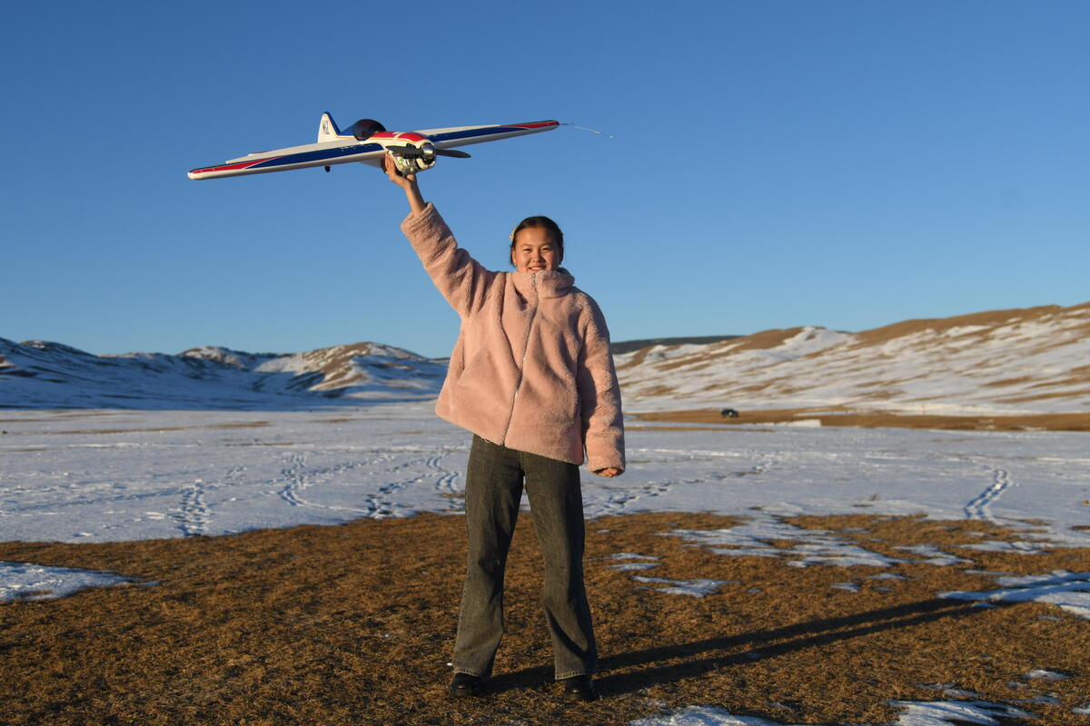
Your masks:
M447 355L377 170L185 175L325 110L614 134L421 175L495 268L558 220L614 340L1082 303L1088 28L1076 0L9 3L0 336Z

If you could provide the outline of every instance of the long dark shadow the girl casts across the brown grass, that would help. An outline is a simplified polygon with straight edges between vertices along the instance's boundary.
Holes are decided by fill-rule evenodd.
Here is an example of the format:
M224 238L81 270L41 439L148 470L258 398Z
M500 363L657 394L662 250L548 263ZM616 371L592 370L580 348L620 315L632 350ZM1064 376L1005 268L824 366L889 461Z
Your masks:
M993 606L1004 606L1004 603L996 603ZM981 612L981 606L974 603L935 598L770 630L647 648L602 659L598 664L600 675L595 678L595 682L603 694L620 696L649 686L701 676L717 668L777 657L809 648L821 648L828 643L884 630L909 628L942 618L960 619ZM681 662L657 665L678 660ZM633 667L634 669L631 669ZM626 672L613 675L609 673L621 668ZM524 668L498 676L493 682L493 690L501 692L525 688L550 676L549 667Z

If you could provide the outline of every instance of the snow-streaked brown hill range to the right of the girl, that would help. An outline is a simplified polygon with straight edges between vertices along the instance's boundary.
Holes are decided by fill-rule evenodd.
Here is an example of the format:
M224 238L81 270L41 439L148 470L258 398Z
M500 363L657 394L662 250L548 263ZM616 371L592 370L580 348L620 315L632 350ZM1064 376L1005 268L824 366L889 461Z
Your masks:
M932 415L1090 410L1090 303L770 330L617 356L629 411L849 407Z

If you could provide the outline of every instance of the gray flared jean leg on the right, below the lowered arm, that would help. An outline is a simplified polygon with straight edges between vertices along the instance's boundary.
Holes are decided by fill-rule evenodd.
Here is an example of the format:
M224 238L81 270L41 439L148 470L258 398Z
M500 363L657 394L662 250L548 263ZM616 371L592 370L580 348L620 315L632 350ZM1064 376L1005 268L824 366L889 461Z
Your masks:
M594 626L583 582L583 494L574 464L520 453L526 494L545 561L542 608L553 639L555 677L597 668Z

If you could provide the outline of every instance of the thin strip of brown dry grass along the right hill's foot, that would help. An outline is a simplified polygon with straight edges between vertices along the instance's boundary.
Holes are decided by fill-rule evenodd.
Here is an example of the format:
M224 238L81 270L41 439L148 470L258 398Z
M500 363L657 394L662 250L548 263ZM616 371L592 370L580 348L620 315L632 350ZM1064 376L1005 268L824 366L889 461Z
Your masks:
M697 408L676 411L630 414L638 421L673 423L788 423L819 419L822 426L860 426L894 429L955 429L979 431L1090 431L1090 413L1028 414L1021 416L933 416L892 414L888 411L837 410L836 406L820 408L777 408L742 410L738 418L724 418L718 408Z

